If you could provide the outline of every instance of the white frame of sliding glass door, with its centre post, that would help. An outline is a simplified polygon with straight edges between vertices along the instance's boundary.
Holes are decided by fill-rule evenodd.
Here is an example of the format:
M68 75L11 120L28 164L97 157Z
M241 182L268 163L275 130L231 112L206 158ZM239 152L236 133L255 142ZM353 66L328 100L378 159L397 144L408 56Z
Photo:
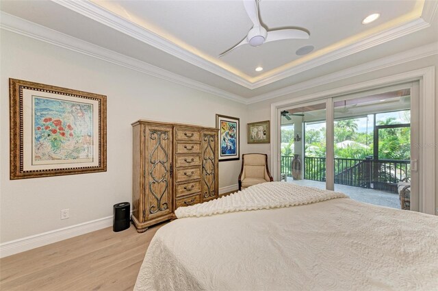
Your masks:
M281 140L279 139L281 136L281 110L298 107L309 101L316 103L325 101L326 123L330 125L326 127L326 157L327 160L333 162L333 156L330 156L333 155L333 96L338 98L350 95L354 98L355 94L361 94L365 90L376 90L376 88L385 88L385 90L387 90L391 86L399 86L400 84L411 81L419 81L417 83L417 87L419 88L419 96L417 96L417 98L419 102L417 104L411 102L411 110L413 110L414 106L418 107L419 126L417 128L420 129L418 133L420 143L414 145L412 149L419 151L418 156L420 159L413 162L415 163L415 168L418 168L416 173L419 175L417 181L419 181L420 185L413 186L419 189L419 211L427 214L438 214L438 208L435 210L435 67L433 66L272 103L271 132L273 142L271 143L270 153L274 180L280 181L281 151L279 150L279 144L281 144ZM414 122L411 121L411 127L414 126ZM331 165L327 165L327 168L329 168L329 166L332 168ZM329 177L327 177L327 180L329 180ZM330 180L334 181L334 177L330 177ZM330 190L331 185L327 188Z

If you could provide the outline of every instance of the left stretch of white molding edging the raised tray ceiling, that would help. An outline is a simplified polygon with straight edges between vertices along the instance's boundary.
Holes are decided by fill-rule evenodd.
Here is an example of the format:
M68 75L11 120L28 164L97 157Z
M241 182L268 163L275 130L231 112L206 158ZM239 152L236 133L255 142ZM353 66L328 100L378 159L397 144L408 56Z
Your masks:
M127 21L125 18L120 17L101 6L88 1L70 1L70 0L51 0L59 5L64 6L74 12L82 14L88 18L93 19L94 21L98 21L107 27L111 27L112 29L116 29L127 36L131 36L137 40L140 40L148 45L151 45L157 49L160 49L174 57L177 57L189 64L193 64L194 66L198 66L199 68L203 68L205 71L209 71L210 73L214 73L220 77L228 79L229 81L233 81L235 84L239 84L246 88L251 88L252 84L250 81L231 73L226 68L222 68L213 62L209 62L195 53L187 51L174 42L167 40L166 38L162 38L152 31L141 27L140 25L136 25L131 21ZM250 78L247 76L247 78Z

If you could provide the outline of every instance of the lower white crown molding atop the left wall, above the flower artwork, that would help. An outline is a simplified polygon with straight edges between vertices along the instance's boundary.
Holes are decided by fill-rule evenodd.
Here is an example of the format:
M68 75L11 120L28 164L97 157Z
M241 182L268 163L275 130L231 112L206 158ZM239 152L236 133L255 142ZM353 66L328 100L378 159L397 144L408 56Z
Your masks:
M50 43L51 45L56 45L57 47L76 51L77 53L89 55L93 58L98 58L99 60L111 62L112 64L124 66L125 68L130 68L134 71L151 75L153 77L172 81L173 83L180 84L189 88L207 92L209 94L214 94L218 97L229 99L231 101L235 101L238 103L246 103L247 101L245 98L240 97L237 94L232 94L213 86L203 84L199 81L194 81L188 77L183 77L181 75L166 71L162 68L136 60L134 58L130 58L121 53L116 53L115 51L99 47L98 45L93 45L90 42L79 40L78 38L74 38L73 36L68 36L67 34L62 34L59 31L55 31L42 25L26 21L23 18L18 18L5 12L0 12L0 18L1 29L12 31L16 34L21 34L23 36L34 38L36 40L41 40L43 42Z

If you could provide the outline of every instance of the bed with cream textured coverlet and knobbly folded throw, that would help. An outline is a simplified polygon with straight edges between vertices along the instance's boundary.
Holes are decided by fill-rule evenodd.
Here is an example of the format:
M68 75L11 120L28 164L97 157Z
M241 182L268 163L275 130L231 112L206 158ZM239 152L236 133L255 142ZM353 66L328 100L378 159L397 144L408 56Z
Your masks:
M134 290L438 290L438 217L285 182L190 207Z

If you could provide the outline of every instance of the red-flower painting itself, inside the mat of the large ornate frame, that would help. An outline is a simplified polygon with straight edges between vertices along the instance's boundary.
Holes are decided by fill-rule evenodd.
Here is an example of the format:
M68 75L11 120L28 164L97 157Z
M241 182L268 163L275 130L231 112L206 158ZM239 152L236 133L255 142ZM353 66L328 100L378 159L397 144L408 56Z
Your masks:
M34 161L91 160L92 105L33 97Z

